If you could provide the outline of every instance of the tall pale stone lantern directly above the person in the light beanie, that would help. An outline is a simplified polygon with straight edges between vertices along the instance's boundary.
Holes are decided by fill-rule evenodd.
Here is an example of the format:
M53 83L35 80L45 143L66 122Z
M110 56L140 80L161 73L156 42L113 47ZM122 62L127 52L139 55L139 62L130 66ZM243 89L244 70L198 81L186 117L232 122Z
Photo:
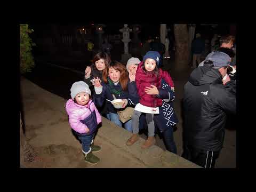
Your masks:
M132 55L129 54L129 46L128 46L128 43L131 41L130 32L132 31L132 29L130 29L127 24L124 24L124 27L122 29L119 29L119 31L123 33L122 42L124 42L124 54L122 54L121 62L124 65L126 65L127 60L132 57Z

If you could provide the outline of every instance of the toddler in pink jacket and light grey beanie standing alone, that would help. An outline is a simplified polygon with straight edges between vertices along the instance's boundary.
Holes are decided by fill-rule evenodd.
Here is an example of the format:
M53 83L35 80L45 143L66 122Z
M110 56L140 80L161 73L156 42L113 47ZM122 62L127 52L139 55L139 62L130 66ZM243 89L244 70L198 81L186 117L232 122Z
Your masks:
M91 90L85 82L75 82L70 91L71 99L66 103L69 124L73 133L82 143L85 161L95 165L100 159L94 156L92 152L100 151L101 147L93 145L93 140L97 126L101 123L101 116L90 99Z

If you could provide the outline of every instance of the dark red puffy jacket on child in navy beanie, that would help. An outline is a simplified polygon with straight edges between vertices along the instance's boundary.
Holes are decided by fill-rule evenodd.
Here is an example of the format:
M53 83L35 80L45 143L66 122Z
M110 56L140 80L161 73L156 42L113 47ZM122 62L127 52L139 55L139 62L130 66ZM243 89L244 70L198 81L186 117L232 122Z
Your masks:
M151 87L150 85L155 85L157 89L160 89L162 78L166 81L167 84L169 84L171 87L174 87L172 77L167 71L163 71L162 69L158 69L157 77L153 71L143 71L143 69L141 68L142 65L143 61L140 62L135 76L135 82L137 85L137 92L140 97L140 103L141 105L147 107L160 107L162 106L162 99L156 98L156 95L147 94L145 92L145 87Z

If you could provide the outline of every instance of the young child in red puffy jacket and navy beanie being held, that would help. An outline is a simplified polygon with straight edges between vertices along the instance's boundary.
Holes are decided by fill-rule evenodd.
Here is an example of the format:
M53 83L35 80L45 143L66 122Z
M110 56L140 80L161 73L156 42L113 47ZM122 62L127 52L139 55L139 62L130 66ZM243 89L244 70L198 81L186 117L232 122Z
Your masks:
M142 113L146 114L148 125L148 138L141 146L143 149L148 149L155 143L155 124L154 114L159 114L159 107L162 106L162 99L159 98L161 89L161 79L163 78L174 90L174 83L167 71L158 69L160 54L156 51L149 51L143 57L143 62L138 66L135 76L140 102L135 106L132 116L132 137L127 140L126 145L131 146L139 139L139 118Z

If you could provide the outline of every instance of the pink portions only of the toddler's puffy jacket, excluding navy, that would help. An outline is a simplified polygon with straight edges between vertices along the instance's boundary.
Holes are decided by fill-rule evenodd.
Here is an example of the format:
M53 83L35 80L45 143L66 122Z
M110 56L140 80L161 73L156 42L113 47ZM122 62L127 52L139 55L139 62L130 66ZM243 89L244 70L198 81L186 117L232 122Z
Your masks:
M89 106L91 110L89 109ZM84 120L86 117L88 117L91 114L91 111L94 110L97 118L97 124L99 124L101 122L101 116L91 99L85 106L78 105L72 99L69 99L66 103L66 111L68 113L69 124L71 128L78 133L89 132L89 128L84 123L82 123L81 120Z

